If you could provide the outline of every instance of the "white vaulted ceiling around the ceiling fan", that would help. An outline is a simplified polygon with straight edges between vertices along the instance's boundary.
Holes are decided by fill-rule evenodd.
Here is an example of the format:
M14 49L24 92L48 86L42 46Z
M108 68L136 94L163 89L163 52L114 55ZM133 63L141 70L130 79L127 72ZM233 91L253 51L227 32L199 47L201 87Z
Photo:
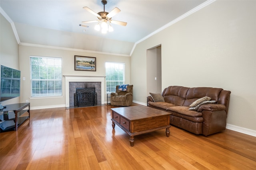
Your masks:
M94 44L102 44L102 40L123 42L130 51L132 44L150 35L186 12L196 8L206 0L107 0L105 11L110 12L118 7L121 12L112 17L112 20L127 22L126 26L112 24L113 32L102 34L94 30L96 23L87 23L81 27L82 21L97 20L96 16L84 10L87 6L94 12L103 11L101 0L0 0L0 7L14 22L18 36L22 43L39 43L54 45L42 41L32 41L30 29L65 31L80 37L96 36ZM85 25L85 24L84 24ZM26 33L26 30L28 32ZM84 31L85 30L85 31ZM24 34L24 35L22 35ZM31 35L32 36L32 35ZM50 35L48 35L50 36ZM55 36L55 35L53 35ZM79 36L78 36L79 37ZM56 42L55 42L56 43ZM119 43L118 43L119 44ZM121 43L122 44L122 43ZM58 46L58 45L57 45ZM74 45L69 48L76 48ZM86 47L78 47L84 50ZM102 49L95 49L102 51ZM114 52L118 51L105 51ZM128 52L126 52L128 53Z

